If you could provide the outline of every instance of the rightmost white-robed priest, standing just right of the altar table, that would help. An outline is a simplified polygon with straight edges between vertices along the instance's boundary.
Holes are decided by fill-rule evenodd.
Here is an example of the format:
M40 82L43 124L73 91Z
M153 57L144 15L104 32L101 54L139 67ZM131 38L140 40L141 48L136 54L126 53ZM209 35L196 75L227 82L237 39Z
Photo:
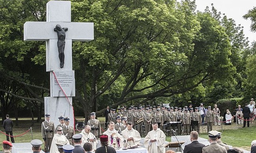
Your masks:
M152 123L153 130L145 137L144 146L149 153L163 153L166 135L158 128L157 122Z

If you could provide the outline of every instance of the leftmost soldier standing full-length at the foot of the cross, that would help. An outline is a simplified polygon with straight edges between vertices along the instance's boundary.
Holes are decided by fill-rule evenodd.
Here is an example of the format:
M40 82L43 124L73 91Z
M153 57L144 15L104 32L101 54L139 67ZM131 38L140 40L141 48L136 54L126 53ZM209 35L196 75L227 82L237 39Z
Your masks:
M46 114L46 121L41 124L41 133L44 139L44 152L49 153L51 148L51 141L55 134L54 122L50 121L51 115Z

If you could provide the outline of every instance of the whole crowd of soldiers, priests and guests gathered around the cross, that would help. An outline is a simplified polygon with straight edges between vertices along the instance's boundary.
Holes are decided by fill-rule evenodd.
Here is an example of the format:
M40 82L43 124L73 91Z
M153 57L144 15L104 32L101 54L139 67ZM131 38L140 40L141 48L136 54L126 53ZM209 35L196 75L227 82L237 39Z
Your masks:
M247 127L249 122L253 122L256 109L254 107L255 102L251 99L250 104L241 108L241 105L236 109L236 116L238 124L243 124L244 127L247 120ZM132 148L139 146L141 141L141 135L145 136L144 146L149 153L163 153L166 141L166 129L176 129L177 134L190 135L192 143L188 144L184 148L184 153L210 153L208 148L218 149L219 153L227 153L230 150L230 146L220 141L221 133L213 131L212 126L221 126L220 110L215 104L212 108L207 108L201 103L199 107L193 108L192 104L178 107L166 107L164 105L157 106L143 106L138 107L126 106L122 108L110 109L107 106L105 110L105 129L101 130L100 121L96 119L95 112L90 113L90 120L87 125L80 132L75 134L75 129L69 125L70 119L68 117L59 117L60 124L55 127L54 122L50 120L51 115L46 114L46 120L41 124L41 134L44 140L44 151L46 153L62 153L65 150L73 153L84 153L85 151L90 153L115 153L115 148ZM9 119L9 115L6 115L7 119L4 121L4 128L6 133L12 134L13 123ZM231 124L233 116L230 111L225 113L225 124ZM207 124L207 132L209 134L210 145L205 146L197 141L198 134L200 133L200 125L202 123ZM101 133L101 131L104 131ZM97 148L98 139L100 139L101 146ZM13 137L11 141L14 143ZM7 136L7 142L9 142L9 136ZM3 142L6 145L7 142ZM256 142L256 141L255 141ZM252 142L252 148L255 143ZM10 146L11 143L7 145ZM31 141L33 148L37 152L41 149L41 141ZM220 145L216 147L217 145ZM253 147L254 146L254 147ZM66 148L67 147L67 148ZM200 149L198 149L198 148ZM65 149L66 148L66 149ZM212 149L210 149L212 151ZM254 148L255 150L255 148ZM169 151L170 152L170 151ZM241 153L241 151L240 151Z

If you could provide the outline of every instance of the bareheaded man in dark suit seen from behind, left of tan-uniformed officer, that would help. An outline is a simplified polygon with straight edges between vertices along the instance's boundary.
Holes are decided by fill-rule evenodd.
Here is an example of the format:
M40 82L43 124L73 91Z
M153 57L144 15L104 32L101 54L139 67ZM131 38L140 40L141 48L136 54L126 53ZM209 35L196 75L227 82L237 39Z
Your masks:
M184 147L183 153L202 153L202 148L205 147L205 145L202 143L199 143L197 139L198 139L197 131L191 131L190 133L191 143L187 144Z

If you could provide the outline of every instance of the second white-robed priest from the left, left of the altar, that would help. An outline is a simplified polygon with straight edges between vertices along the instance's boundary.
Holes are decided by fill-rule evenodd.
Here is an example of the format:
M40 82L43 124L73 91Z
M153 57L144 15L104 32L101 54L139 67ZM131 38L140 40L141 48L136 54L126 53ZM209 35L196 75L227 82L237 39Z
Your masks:
M82 134L81 146L83 146L83 144L85 144L86 142L90 142L93 146L93 152L94 152L97 149L98 140L96 139L96 136L93 135L93 133L91 133L90 131L91 131L90 125L85 125L85 128L80 133Z

